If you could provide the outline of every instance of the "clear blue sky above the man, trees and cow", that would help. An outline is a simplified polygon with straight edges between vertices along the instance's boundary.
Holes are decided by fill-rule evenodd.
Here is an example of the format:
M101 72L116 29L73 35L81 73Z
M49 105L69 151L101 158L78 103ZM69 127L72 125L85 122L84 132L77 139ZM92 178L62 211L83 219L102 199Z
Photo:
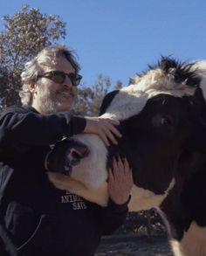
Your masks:
M206 59L205 0L7 0L0 17L13 15L27 3L67 24L61 41L72 46L84 76L93 85L99 73L113 84L155 64L161 55ZM3 22L0 22L3 30Z

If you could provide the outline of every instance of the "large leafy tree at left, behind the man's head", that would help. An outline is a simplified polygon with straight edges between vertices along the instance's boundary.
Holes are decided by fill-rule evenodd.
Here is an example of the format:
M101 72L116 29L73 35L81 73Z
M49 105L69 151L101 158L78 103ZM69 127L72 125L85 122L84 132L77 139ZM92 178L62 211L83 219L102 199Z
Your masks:
M4 16L0 32L0 99L2 107L18 104L24 63L45 46L65 38L65 22L24 5L14 16Z

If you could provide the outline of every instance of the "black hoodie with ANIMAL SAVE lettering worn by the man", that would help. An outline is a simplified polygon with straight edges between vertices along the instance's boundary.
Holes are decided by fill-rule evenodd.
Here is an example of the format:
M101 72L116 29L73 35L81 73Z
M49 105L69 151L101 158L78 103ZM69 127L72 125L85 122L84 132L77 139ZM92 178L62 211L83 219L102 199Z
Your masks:
M0 115L0 255L92 256L100 237L114 232L127 204L92 204L49 182L51 144L81 133L83 117L38 114L28 106Z

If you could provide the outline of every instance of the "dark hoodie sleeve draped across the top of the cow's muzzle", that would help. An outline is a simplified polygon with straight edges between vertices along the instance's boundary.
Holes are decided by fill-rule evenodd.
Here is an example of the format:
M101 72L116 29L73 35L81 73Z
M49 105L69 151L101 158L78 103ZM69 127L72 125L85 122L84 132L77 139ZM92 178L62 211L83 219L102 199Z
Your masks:
M45 115L11 107L0 115L0 146L48 145L64 136L79 134L85 127L85 118L69 113Z

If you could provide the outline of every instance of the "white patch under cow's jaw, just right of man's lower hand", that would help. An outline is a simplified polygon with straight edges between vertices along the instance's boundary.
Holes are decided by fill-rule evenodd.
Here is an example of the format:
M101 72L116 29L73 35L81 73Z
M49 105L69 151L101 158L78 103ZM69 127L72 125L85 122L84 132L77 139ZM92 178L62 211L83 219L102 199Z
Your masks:
M168 185L168 189L161 195L156 195L153 191L144 190L136 185L133 185L131 191L131 200L128 204L129 211L149 210L159 207L162 201L168 196L168 193L175 185L175 179Z

